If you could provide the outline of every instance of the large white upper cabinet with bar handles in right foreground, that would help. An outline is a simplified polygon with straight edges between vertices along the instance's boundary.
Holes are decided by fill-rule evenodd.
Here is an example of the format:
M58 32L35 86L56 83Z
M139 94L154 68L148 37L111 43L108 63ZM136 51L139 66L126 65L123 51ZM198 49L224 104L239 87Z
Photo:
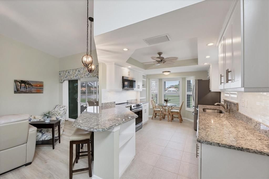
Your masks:
M269 1L232 1L218 39L222 91L269 92Z

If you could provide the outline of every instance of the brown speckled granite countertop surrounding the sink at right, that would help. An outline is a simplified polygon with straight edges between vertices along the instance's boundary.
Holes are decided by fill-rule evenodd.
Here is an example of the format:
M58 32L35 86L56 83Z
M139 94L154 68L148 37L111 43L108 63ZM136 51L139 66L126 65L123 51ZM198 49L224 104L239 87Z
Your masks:
M268 137L233 114L206 113L203 108L224 111L221 106L198 106L197 142L269 156Z

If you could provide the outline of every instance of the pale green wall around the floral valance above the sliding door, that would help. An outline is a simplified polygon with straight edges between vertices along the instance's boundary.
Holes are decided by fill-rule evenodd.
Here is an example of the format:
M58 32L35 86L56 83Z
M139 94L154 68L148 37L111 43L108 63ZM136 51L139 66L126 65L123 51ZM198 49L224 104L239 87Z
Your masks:
M82 68L81 58L85 55L86 52L79 54L69 55L67 57L59 58L59 71L70 70L76 68ZM93 64L98 65L98 59L96 50L91 51L91 56L93 57ZM59 82L59 103L63 103L63 83Z

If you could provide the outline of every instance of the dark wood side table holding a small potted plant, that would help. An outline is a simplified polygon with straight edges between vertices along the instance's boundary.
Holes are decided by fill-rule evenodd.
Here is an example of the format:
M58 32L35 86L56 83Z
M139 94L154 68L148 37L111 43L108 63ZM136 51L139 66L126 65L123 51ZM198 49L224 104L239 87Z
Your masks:
M51 128L52 130L52 139L49 140L43 140L43 141L36 141L36 145L51 145L52 144L52 149L54 149L55 142L59 141L61 143L61 127L60 127L60 122L61 120L51 120L49 122L45 121L33 121L30 122L32 126L36 128ZM58 126L58 138L55 139L55 127Z

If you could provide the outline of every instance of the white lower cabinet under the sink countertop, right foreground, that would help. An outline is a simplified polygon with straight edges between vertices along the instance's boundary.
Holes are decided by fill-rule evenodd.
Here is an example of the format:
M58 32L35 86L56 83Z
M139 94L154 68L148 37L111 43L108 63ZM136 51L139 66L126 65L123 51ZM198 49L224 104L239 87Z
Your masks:
M269 178L269 156L204 143L199 143L197 155L199 179Z

